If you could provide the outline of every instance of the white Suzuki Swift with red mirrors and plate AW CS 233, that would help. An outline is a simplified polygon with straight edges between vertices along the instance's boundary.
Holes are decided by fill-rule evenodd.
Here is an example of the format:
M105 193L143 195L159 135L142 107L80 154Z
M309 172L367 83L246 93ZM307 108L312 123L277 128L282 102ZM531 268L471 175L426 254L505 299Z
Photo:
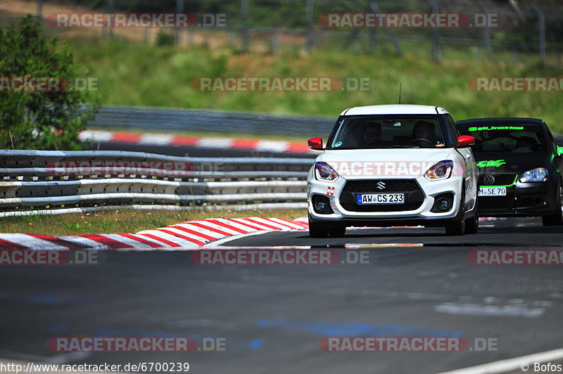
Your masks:
M343 236L347 226L441 226L449 235L479 226L472 136L429 105L344 110L307 178L309 233Z

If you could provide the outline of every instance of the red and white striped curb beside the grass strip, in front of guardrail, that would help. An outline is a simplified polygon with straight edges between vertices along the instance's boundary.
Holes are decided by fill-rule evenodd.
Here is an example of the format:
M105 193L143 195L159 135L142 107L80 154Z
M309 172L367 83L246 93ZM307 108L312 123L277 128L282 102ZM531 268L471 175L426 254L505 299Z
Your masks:
M306 219L282 218L203 219L139 231L77 236L0 233L0 250L182 250L217 245L240 236L270 231L304 231Z

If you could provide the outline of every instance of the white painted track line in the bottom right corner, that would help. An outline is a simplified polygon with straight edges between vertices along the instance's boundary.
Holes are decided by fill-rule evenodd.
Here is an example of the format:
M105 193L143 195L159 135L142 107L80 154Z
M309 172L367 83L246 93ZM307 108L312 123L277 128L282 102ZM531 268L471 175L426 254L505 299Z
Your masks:
M549 362L563 359L563 348L553 349L552 351L538 352L529 354L527 356L520 356L514 359L507 359L495 361L491 363L484 363L483 365L470 366L469 368L462 368L459 370L445 371L440 374L497 374L497 373L510 373L514 370L521 370L521 365L526 363L529 365L530 373L534 373L533 363Z

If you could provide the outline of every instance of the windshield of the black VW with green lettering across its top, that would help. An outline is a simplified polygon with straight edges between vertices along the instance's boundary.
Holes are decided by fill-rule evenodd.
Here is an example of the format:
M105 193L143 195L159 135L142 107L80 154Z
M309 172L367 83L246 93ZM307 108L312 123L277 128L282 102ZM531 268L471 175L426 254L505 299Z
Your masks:
M469 124L458 127L462 135L475 137L474 153L543 153L542 128L533 124Z

